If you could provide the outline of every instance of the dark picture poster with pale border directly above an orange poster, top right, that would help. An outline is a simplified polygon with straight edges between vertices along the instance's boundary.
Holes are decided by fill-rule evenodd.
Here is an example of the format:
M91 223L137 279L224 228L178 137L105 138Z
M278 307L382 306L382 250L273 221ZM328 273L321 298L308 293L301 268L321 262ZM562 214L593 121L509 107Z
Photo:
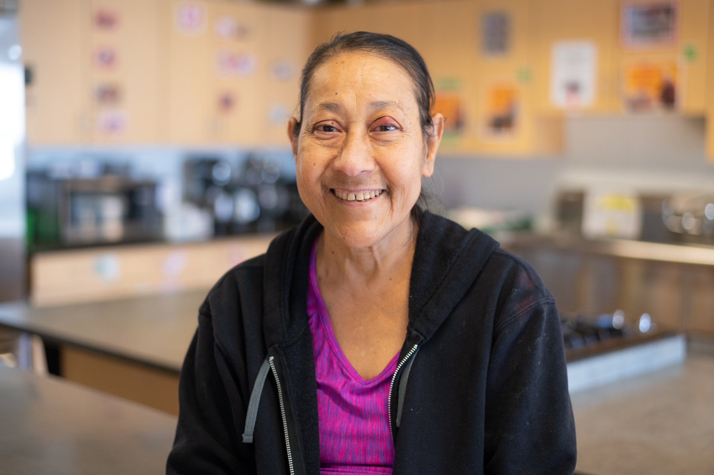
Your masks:
M620 28L623 44L629 48L672 46L677 36L677 4L674 1L625 3Z

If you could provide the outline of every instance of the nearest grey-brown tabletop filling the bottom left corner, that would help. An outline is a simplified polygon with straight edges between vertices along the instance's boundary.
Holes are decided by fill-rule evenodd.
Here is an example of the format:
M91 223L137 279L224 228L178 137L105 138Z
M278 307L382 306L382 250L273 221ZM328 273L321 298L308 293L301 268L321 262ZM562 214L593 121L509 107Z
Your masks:
M0 475L161 474L175 430L156 409L0 366Z

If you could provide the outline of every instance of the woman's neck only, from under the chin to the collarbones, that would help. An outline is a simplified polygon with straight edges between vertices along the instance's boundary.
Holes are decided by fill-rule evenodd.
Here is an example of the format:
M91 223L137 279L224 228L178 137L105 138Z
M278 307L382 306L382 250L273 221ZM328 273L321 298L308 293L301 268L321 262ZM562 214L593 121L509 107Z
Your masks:
M370 282L393 280L394 276L403 278L404 272L411 274L416 234L417 224L411 216L376 244L363 249L348 248L341 239L324 231L316 249L318 275L338 279L343 285L360 283L363 287L370 287Z

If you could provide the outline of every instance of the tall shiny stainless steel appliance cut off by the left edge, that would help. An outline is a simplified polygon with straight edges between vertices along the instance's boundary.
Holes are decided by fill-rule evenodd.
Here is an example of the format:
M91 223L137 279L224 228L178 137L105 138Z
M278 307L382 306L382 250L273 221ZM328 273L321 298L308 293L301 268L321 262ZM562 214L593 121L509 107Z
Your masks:
M16 1L0 0L0 301L25 294L25 94Z

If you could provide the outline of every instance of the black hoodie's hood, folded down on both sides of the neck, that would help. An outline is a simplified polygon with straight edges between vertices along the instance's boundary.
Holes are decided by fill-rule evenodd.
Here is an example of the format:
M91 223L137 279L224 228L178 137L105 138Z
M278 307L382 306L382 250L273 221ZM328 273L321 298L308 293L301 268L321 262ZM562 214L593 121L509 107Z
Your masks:
M419 229L409 283L407 334L426 340L451 314L498 242L478 229L417 209ZM323 227L309 215L273 239L263 273L263 330L268 348L296 341L308 328L310 250Z

